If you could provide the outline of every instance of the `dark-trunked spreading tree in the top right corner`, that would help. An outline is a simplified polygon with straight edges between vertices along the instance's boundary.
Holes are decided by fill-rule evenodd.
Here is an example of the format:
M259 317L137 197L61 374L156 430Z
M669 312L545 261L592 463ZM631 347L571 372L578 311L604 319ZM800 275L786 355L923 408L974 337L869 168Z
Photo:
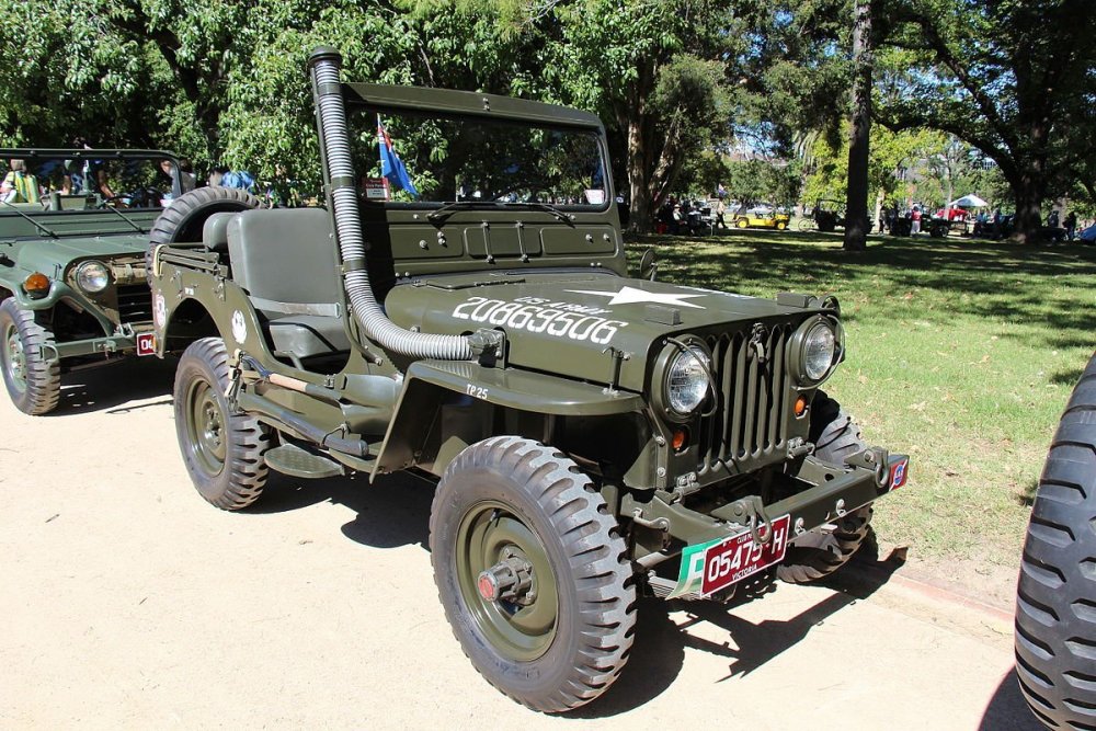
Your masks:
M1016 236L1094 156L1091 0L914 0L895 5L878 118L949 133L993 160L1015 195Z

